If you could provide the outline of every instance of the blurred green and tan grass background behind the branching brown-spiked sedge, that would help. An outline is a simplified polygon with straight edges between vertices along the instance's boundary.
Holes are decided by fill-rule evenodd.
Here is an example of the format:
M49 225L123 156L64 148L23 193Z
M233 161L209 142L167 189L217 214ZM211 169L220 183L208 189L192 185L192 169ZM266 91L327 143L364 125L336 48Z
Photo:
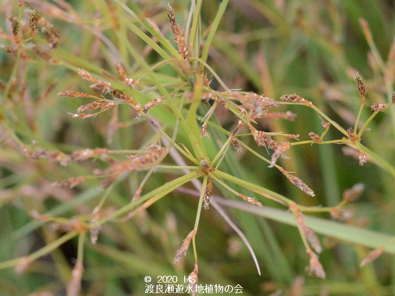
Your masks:
M91 31L83 29L81 24L71 24L40 12L60 31L62 43L54 51L54 55L61 62L59 65L49 65L34 57L34 62L26 66L26 74L18 76L20 80L17 81L16 88L20 91L21 85L26 84L28 101L15 104L13 111L18 120L12 128L24 143L35 140L43 148L72 150L140 147L149 138L148 129L138 131L133 126L127 126L117 131L112 144L107 144L106 126L110 114L76 120L66 112L75 110L83 101L56 96L57 92L66 89L88 92L88 84L75 73L77 68L99 75L104 69L115 75L113 62L122 57L128 62L124 63L125 68L128 71L134 70L133 77L145 73L128 49L129 41L140 53L145 49L144 43L127 30L129 24L138 26L138 23L131 20L120 5L114 1L97 1L97 4L90 1L70 3L77 11L81 24L86 28L96 26L115 45L120 55L115 56L114 51L99 42ZM17 14L17 5L15 1L6 0L2 0L1 4L0 11L4 16L0 21L1 28L9 32L5 16ZM160 28L168 30L165 12L167 2L127 1L125 4L138 6ZM189 2L179 0L171 4L175 7L179 21L183 23ZM214 19L218 5L219 1L203 1L202 32ZM120 16L118 19L112 17L110 7L114 7L115 13ZM231 1L214 37L208 64L231 88L266 93L273 99L278 99L285 93L296 92L347 128L353 126L353 123L348 121L346 111L356 116L360 102L353 79L356 71L367 81L368 106L387 103L389 100L386 97L383 74L377 70L375 61L369 58L370 50L358 19L362 17L369 23L378 50L383 59L387 60L394 36L393 9L394 3L384 0ZM170 36L168 31L165 35ZM2 42L7 44L6 40ZM264 66L257 62L260 52L265 57ZM150 53L146 56L146 61L151 65L160 61L160 57ZM15 59L10 54L0 52L2 82L8 82L14 62ZM267 68L269 76L265 76L262 67ZM162 74L164 81L175 75L169 67L163 68ZM392 84L393 82L391 81ZM56 83L54 89L47 97L39 100L40 95L52 83ZM214 85L212 87L215 88ZM139 95L143 98L143 94ZM262 121L262 129L265 127L274 132L300 134L302 141L309 139L309 132L320 132L322 128L316 114L310 109L298 107L292 108L298 114L295 121ZM32 108L33 112L27 108ZM168 123L174 122L165 110L153 109L152 114ZM362 119L368 118L370 114L371 111L366 106ZM377 116L370 124L370 130L365 132L363 143L394 163L391 116L391 112L387 111ZM122 121L132 119L126 109L120 110L120 118ZM232 118L220 120L226 124ZM338 132L331 132L328 138L341 137ZM220 134L215 135L213 129L210 134L222 143L225 141ZM101 166L97 162L60 169L58 165L43 160L36 162L15 150L4 135L2 132L0 147L1 261L30 254L56 236L48 231L47 226L40 225L42 223L32 222L28 215L30 210L40 209L40 213L62 214L66 217L72 217L76 213L90 213L100 198L98 190L92 189L99 185L98 182L90 181L79 185L75 190L62 192L48 191L46 188L50 182L84 175L91 168ZM248 144L255 145L253 141ZM265 149L260 150L260 153L265 155ZM297 176L316 191L316 198L306 197L288 184L287 180L283 180L279 173L268 169L266 163L257 161L256 157L246 152L242 156L228 153L221 170L233 173L236 177L246 177L249 182L265 186L306 205L335 205L341 199L343 190L355 183L363 183L365 193L351 205L356 215L354 223L378 233L394 235L395 188L393 177L387 172L372 163L360 167L356 159L345 156L336 145L295 147L289 155L292 156L291 159L282 160L282 165L286 170L296 171ZM237 157L242 157L241 161ZM155 174L155 179L151 179L151 183L147 185L147 191L169 181L170 174L172 173L169 172L167 176ZM106 207L117 209L128 203L143 177L144 172L134 172L119 182ZM236 186L235 189L251 195L250 191L244 192ZM215 193L234 198L225 191L218 190ZM133 220L106 224L98 245L86 244L82 295L139 296L144 295L144 276L156 279L158 275L177 275L180 279L188 275L194 264L192 252L188 252L185 263L181 266L174 266L171 262L182 240L192 229L196 203L197 199L175 192L159 200ZM270 203L268 205L272 206ZM250 240L261 265L262 276L257 275L250 254L239 237L210 208L202 214L197 235L201 284L240 284L244 288L244 295L270 295L277 289L283 291L282 295L292 296L325 295L324 291L327 291L327 295L395 294L393 255L384 254L372 265L359 268L360 260L367 255L367 249L349 247L335 239L321 237L325 246L320 261L327 273L327 280L322 281L309 277L305 272L308 258L296 228L264 220L245 211L229 210L229 214ZM329 217L325 214L321 218ZM311 227L314 228L314 225ZM318 226L315 230L319 233ZM76 256L77 240L71 240L58 252L34 262L23 274L16 274L12 269L1 270L0 295L29 295L40 291L64 295L64 287ZM298 276L305 278L301 294L295 294L291 290Z

